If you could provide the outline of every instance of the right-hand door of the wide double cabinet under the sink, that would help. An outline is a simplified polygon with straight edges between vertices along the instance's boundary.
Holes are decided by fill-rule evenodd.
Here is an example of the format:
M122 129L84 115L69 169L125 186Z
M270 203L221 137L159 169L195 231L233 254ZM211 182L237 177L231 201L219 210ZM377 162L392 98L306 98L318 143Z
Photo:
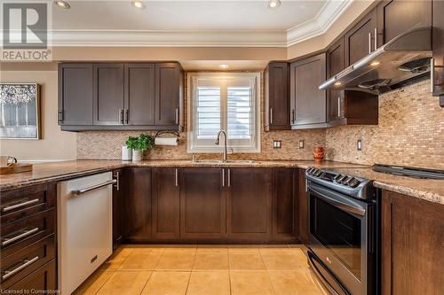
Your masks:
M272 169L227 169L227 236L268 241L272 236Z

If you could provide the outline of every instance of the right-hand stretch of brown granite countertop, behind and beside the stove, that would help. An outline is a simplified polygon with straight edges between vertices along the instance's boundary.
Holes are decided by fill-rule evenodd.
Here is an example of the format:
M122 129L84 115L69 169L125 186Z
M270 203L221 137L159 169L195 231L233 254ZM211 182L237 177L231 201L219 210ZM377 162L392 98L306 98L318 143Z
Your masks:
M415 198L422 198L444 205L444 180L421 179L399 175L388 175L368 168L335 168L335 171L372 179L373 185L383 190L391 190Z

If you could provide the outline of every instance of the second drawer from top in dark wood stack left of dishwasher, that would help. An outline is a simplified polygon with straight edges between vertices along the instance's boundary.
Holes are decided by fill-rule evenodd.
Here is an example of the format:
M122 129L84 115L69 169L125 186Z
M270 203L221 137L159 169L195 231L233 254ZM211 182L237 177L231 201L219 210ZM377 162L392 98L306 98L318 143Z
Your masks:
M55 222L56 211L51 209L8 224L0 224L2 257L54 234Z

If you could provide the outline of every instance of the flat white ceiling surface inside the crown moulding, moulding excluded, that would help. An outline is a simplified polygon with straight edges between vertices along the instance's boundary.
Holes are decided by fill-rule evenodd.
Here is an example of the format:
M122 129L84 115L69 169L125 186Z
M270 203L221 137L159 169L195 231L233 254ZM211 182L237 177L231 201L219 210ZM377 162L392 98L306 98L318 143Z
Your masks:
M92 30L287 30L313 19L326 0L285 1L268 8L266 0L69 1L71 9L53 9L55 29Z

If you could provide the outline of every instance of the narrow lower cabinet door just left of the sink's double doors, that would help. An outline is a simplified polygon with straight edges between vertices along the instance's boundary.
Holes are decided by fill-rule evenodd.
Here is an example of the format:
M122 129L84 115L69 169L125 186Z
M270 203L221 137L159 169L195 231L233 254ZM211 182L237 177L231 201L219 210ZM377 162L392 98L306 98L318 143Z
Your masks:
M152 169L153 238L177 239L180 234L178 168Z

